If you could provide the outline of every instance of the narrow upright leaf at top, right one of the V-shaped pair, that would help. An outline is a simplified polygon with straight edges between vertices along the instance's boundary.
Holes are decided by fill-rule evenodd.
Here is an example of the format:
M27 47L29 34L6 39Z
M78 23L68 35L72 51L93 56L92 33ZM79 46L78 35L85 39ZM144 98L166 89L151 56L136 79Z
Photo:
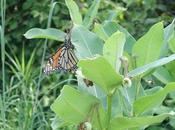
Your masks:
M87 28L91 26L93 23L93 19L97 15L98 8L100 5L100 0L94 0L91 7L89 8L88 12L85 15L85 18L83 20L83 25Z

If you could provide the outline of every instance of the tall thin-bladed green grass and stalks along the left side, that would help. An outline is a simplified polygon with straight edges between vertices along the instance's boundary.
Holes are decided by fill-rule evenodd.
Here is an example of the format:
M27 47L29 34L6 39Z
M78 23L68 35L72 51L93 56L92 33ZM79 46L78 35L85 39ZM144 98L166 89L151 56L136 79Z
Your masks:
M53 9L56 3L51 1L51 9L47 28L51 25ZM8 53L5 52L5 7L6 1L1 0L1 61L2 61L2 94L0 97L0 130L43 130L50 129L49 119L52 116L50 109L44 110L44 95L41 92L40 82L43 79L42 65L46 52L47 40L43 46L43 56L41 68L34 68L36 48L30 52L30 57L25 56L25 47L22 48L21 58L13 53L11 47L8 47ZM21 34L22 35L22 34ZM8 45L8 44L7 44ZM12 55L12 56L11 56ZM5 61L5 56L7 61ZM5 65L8 70L5 78ZM39 72L39 76L38 76ZM6 80L9 81L5 84ZM49 92L48 92L49 93ZM47 119L46 119L47 118Z

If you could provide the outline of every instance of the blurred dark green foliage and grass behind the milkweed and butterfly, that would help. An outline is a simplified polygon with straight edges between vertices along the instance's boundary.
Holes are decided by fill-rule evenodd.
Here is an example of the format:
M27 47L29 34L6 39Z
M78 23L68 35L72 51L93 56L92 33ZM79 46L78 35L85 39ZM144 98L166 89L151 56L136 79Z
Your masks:
M87 13L91 0L77 0L81 13ZM173 20L175 2L173 0L103 0L94 20L115 20L125 27L136 39L148 31L154 23L164 20L168 25ZM76 83L72 75L56 73L49 77L42 75L38 83L43 40L26 40L23 34L30 28L46 28L50 1L8 0L6 5L6 89L1 97L0 128L5 129L51 129L54 114L50 104L59 95L64 84ZM1 18L2 19L2 18ZM59 0L52 16L51 27L66 30L71 26L70 16L64 0ZM46 58L57 50L59 42L49 41ZM171 69L171 65L169 65ZM2 76L0 77L2 78ZM2 80L2 79L1 79ZM143 84L146 81L143 81ZM146 84L146 83L145 83ZM2 86L2 82L0 82ZM151 86L146 86L151 87ZM2 88L2 87L1 87ZM167 100L165 103L169 103ZM172 100L171 100L172 101ZM174 101L173 101L174 102ZM168 121L155 129L173 129ZM148 128L149 129L149 128Z

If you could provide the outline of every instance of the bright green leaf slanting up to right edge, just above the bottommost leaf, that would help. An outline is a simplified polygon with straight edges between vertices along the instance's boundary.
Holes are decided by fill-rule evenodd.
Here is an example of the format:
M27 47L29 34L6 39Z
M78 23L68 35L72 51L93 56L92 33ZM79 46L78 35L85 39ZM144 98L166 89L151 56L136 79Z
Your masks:
M151 110L160 105L165 99L166 95L172 91L175 91L175 83L169 83L162 90L159 90L152 95L143 96L137 99L133 105L134 114L136 116L140 115L143 112Z

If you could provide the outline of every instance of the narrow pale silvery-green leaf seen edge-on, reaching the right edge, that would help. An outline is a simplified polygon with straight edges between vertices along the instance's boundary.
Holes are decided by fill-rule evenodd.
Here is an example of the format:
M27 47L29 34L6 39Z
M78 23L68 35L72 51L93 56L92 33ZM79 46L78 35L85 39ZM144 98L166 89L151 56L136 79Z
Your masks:
M128 76L134 77L134 76L141 75L148 70L155 69L155 68L162 66L162 65L165 65L173 60L175 60L175 54L170 55L169 57L165 57L165 58L156 60L156 61L149 63L149 64L146 64L142 67L136 68L136 69L130 71L128 73Z

